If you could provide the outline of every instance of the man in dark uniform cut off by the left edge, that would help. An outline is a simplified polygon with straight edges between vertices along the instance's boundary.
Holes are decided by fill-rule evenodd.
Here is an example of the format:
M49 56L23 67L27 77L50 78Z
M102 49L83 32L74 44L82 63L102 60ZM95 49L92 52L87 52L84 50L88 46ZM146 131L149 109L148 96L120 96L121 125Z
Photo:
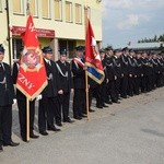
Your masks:
M2 62L4 48L0 45L0 152L2 145L16 147L20 143L12 141L12 104L15 98L14 87L11 77L11 68ZM15 99L14 99L15 102Z

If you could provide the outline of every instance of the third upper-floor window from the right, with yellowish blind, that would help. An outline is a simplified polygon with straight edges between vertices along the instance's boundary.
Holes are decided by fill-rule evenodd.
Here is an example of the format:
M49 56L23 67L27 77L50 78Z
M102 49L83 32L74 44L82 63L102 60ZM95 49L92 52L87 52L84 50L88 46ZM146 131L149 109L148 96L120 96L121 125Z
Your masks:
M54 8L55 8L55 20L61 21L61 1L60 0L55 0L54 2Z

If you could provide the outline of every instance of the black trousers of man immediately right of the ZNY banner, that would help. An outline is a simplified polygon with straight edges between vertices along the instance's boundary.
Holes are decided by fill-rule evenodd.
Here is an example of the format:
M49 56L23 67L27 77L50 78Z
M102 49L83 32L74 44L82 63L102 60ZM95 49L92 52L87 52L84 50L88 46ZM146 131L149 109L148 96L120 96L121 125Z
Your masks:
M43 97L38 107L38 129L45 131L46 128L54 127L54 118L59 120L59 102L58 97ZM47 127L46 127L47 124Z

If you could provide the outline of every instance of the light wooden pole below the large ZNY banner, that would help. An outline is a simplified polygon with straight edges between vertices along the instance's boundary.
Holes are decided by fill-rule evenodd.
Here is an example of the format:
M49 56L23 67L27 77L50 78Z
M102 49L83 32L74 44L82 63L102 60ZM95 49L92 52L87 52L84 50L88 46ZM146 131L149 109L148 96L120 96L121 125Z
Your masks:
M26 97L26 141L30 141L30 99Z

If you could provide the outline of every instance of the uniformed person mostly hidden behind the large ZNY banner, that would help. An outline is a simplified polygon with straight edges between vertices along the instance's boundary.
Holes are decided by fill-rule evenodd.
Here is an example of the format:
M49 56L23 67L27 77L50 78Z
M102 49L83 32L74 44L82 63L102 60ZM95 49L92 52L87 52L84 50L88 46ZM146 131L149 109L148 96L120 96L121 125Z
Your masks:
M20 55L23 52L23 47L20 48ZM13 63L12 78L13 83L16 84L17 73L20 68L20 60ZM26 96L16 89L16 99L19 107L20 131L21 138L26 142ZM39 136L34 134L34 118L35 118L35 99L30 101L30 138L37 139Z

